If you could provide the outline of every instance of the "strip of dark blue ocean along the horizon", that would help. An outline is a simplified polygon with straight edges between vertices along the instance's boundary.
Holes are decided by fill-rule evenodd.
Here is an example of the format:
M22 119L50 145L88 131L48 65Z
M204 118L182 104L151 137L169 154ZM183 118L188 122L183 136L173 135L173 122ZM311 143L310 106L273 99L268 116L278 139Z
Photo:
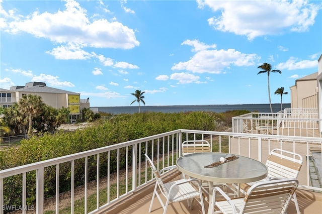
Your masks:
M138 105L131 106L110 106L110 107L95 107L99 112L111 113L114 115L121 113L137 113L139 112ZM283 103L283 109L291 108L291 103ZM140 106L141 112L163 112L163 113L178 113L178 112L196 112L196 111L209 111L209 112L226 112L230 110L248 110L250 112L270 113L270 104L235 104L235 105L143 105ZM281 103L272 104L273 112L281 110Z

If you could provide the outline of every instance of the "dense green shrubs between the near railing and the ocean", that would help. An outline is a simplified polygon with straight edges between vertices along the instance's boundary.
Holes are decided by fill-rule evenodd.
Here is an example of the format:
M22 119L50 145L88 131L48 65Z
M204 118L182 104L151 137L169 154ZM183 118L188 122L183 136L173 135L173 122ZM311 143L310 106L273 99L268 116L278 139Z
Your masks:
M231 111L230 116L246 114L249 111ZM230 124L225 124L228 121ZM5 148L0 151L0 170L13 168L29 163L43 161L51 158L61 157L77 152L96 149L165 133L177 129L210 130L221 131L225 126L231 126L231 117L225 114L213 112L186 112L186 113L154 113L143 114L120 114L110 120L97 120L90 127L75 132L56 132L54 134L45 133L42 137L37 135L23 140L20 146ZM198 136L197 136L198 137ZM200 136L201 137L201 136ZM185 136L183 136L185 138ZM184 140L184 139L183 139ZM142 148L143 149L143 148ZM158 149L157 146L154 149ZM171 148L169 148L171 149ZM157 151L155 151L156 153ZM120 150L122 163L125 163L125 150ZM116 154L111 153L111 173L116 172L117 164L114 164ZM88 159L88 180L96 178L97 156ZM100 157L100 176L107 174L107 157ZM75 161L74 181L75 186L84 184L84 159ZM130 160L128 160L130 162ZM44 172L45 197L55 194L55 167L47 167ZM59 165L59 192L70 190L70 163ZM27 205L34 203L36 189L36 173L27 173ZM20 205L21 202L22 179L21 176L13 176L4 179L4 203Z

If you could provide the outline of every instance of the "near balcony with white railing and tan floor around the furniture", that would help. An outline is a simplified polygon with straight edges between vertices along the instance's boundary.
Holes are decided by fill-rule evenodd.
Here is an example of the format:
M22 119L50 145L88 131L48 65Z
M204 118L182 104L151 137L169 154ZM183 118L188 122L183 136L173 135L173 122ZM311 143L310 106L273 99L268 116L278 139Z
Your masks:
M281 116L284 119L284 116ZM273 120L273 119L269 119ZM274 119L276 120L276 119ZM298 119L296 119L298 120ZM307 121L307 119L304 119ZM312 119L315 120L315 119ZM299 121L300 122L300 121ZM242 126L242 124L241 124ZM242 130L234 124L236 130ZM89 150L68 156L54 158L20 167L0 171L0 207L20 205L27 207L27 173L35 172L36 203L33 204L36 213L147 213L153 191L154 179L144 153L151 154L153 161L158 163L160 170L176 164L177 157L181 156L181 143L184 140L207 140L213 152L229 152L247 156L262 163L273 148L281 148L300 154L303 159L298 180L300 186L297 197L302 213L314 213L322 206L322 188L312 185L312 151L320 151L322 138L309 136L290 136L262 133L238 132L211 132L200 130L175 130L146 138L123 142L103 148ZM125 157L125 163L121 162ZM321 161L321 160L319 160ZM76 166L82 164L82 174L76 171ZM70 191L68 197L59 194L59 184L66 182L60 180L60 169L68 166L70 169ZM47 169L54 171L55 195L50 199L52 203L44 202ZM102 170L102 168L104 170ZM94 171L93 171L94 170ZM114 172L114 171L115 172ZM100 179L89 180L90 174ZM18 175L18 176L17 176ZM318 172L317 172L318 175ZM166 179L179 178L178 171L164 174ZM83 185L75 186L75 177L84 177ZM317 176L318 177L318 176ZM21 204L5 204L4 196L11 190L10 179L21 180ZM79 197L79 190L82 190ZM67 204L67 205L66 205ZM205 201L207 208L208 202ZM65 208L62 208L65 207ZM174 203L169 206L168 213L201 213L200 206L187 208L186 202ZM1 209L0 213L5 210ZM22 210L22 213L29 213ZM152 213L162 213L158 201L153 203ZM294 204L291 204L288 213L295 213Z

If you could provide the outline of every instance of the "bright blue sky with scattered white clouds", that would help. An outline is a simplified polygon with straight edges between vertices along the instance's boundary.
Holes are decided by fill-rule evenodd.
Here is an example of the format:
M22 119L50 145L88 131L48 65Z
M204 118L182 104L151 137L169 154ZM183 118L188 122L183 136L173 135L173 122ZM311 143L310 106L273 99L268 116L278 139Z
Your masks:
M91 106L272 103L317 72L321 1L0 0L0 87L26 82ZM137 105L137 104L132 104Z

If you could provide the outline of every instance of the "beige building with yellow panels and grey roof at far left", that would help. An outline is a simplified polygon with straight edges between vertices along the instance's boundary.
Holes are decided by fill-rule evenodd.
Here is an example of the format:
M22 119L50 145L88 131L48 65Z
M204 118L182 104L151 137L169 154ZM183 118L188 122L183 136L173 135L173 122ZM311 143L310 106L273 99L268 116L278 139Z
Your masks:
M81 115L83 108L90 108L89 98L81 99L80 93L48 87L45 82L28 82L25 86L12 86L10 90L0 88L0 105L9 107L28 94L41 96L42 100L53 108L68 108L71 119Z

